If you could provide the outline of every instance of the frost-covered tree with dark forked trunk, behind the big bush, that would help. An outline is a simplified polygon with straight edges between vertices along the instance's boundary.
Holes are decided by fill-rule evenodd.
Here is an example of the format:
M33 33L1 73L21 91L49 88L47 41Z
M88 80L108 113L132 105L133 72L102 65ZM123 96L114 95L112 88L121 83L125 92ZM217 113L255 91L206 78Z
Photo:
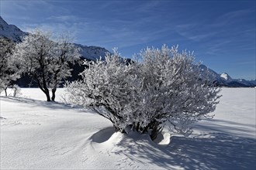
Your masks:
M71 76L70 63L79 58L78 49L67 36L54 41L49 32L35 30L16 45L12 64L22 73L28 73L47 96L55 100L55 92L67 76ZM52 97L50 97L50 90Z

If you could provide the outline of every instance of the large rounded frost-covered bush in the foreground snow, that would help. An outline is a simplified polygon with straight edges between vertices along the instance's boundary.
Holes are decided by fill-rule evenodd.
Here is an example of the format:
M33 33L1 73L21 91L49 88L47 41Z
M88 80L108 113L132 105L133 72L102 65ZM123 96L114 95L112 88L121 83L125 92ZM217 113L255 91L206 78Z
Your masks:
M164 127L189 135L193 122L211 117L220 89L202 74L192 53L162 46L139 56L140 62L127 64L114 50L104 61L85 61L83 80L65 86L67 99L106 117L116 131L138 131L152 140Z

